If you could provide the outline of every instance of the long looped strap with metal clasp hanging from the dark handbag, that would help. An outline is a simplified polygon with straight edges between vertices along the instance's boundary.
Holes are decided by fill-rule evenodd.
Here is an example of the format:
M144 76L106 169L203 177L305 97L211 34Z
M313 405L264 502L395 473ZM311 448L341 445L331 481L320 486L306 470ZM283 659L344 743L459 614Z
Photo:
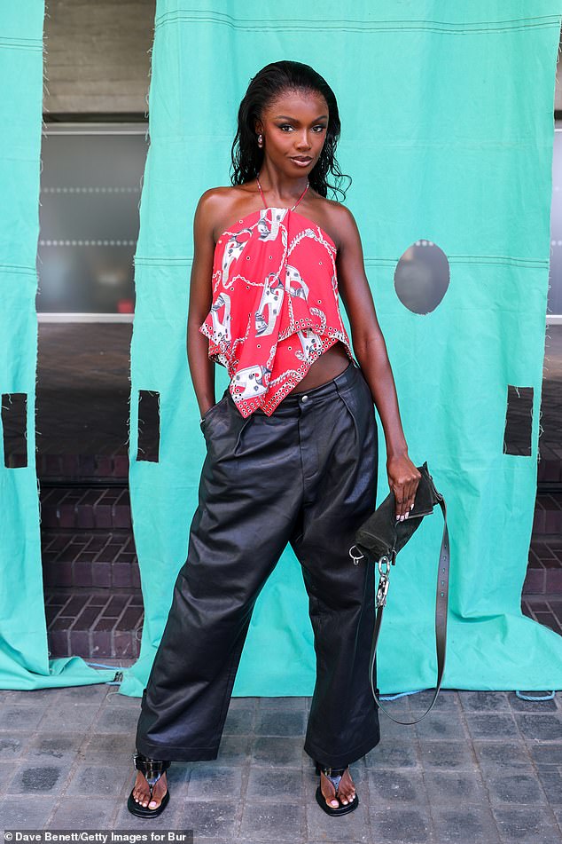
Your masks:
M425 713L420 718L417 718L416 721L399 721L397 718L394 718L394 716L391 715L385 709L384 706L382 706L375 692L375 685L373 682L373 674L375 668L375 653L377 651L377 643L379 641L382 613L386 603L386 594L388 592L388 574L390 570L390 561L387 557L383 556L379 560L380 578L376 599L377 618L375 620L375 630L372 639L369 679L371 681L372 695L373 698L375 698L377 705L382 709L384 713L388 715L389 718L391 718L397 724L417 724L422 720L422 718L425 718L425 715L430 711L430 709L433 709L435 701L437 700L437 695L439 694L439 690L441 689L441 680L445 668L445 651L447 648L447 605L449 602L449 530L447 527L447 507L445 506L445 499L440 493L436 492L436 495L438 498L439 505L441 507L444 522L443 536L441 539L441 550L439 552L439 570L437 572L437 596L435 598L435 648L437 651L437 686L435 688L435 691L433 692L433 700L431 704L427 707ZM386 560L386 572L382 571L383 560Z

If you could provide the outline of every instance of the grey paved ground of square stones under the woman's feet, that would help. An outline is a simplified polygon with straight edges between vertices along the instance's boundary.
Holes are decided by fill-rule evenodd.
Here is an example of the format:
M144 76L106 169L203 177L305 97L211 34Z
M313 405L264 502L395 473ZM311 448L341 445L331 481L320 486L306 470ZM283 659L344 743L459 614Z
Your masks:
M117 688L0 691L0 827L191 828L207 844L562 842L560 692L529 703L443 690L414 727L381 713L380 745L352 765L360 806L340 818L314 800L309 698L232 698L219 758L175 762L168 808L143 821L125 806L140 700ZM415 717L429 699L386 706Z

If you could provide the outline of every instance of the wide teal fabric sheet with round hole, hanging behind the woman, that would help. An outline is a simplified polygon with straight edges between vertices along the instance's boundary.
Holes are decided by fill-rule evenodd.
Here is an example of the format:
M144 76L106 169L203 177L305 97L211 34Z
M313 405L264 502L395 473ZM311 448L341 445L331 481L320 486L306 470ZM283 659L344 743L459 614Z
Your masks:
M141 694L146 682L186 558L204 458L185 350L193 212L200 193L230 184L239 101L275 59L311 64L338 98L338 158L353 177L346 204L362 234L410 457L428 461L447 501L443 687L562 687L562 637L520 611L536 493L561 5L158 0L130 428L146 621L123 694ZM425 316L394 290L395 266L418 239L437 244L450 264L449 289ZM217 397L226 384L217 367ZM503 454L508 384L535 390L527 457ZM159 463L135 459L138 390L160 391ZM382 501L380 423L379 442ZM438 510L393 570L383 692L433 685L441 530ZM305 590L286 548L256 604L234 694L309 695L313 684Z

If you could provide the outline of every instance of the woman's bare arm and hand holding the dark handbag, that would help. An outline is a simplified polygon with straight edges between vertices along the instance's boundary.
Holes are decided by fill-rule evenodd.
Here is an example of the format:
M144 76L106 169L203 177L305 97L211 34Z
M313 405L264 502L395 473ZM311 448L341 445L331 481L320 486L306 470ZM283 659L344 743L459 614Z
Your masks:
M355 358L385 431L386 474L396 501L395 516L403 519L414 506L421 475L408 456L394 376L365 275L361 237L353 214L344 205L334 214L333 229L340 236L336 259L340 298L349 318Z

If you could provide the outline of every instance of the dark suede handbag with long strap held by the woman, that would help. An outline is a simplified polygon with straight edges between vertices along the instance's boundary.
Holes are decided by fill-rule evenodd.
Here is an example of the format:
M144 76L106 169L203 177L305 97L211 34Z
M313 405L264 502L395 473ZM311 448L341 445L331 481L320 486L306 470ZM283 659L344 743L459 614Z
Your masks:
M445 651L447 648L447 604L449 600L449 531L447 528L447 508L445 506L445 499L441 493L437 492L433 485L433 477L427 469L427 461L425 461L423 466L418 466L417 469L421 477L419 479L418 489L416 490L414 506L410 510L409 517L402 521L396 519L394 493L389 493L386 499L379 504L379 507L371 513L371 516L355 532L355 545L352 545L349 549L349 556L352 557L355 565L359 563L362 557L366 557L369 563L377 564L379 568L379 588L377 589L375 600L377 617L371 647L369 680L371 682L373 698L375 698L377 705L397 724L417 724L433 708L439 690L441 689L441 679L445 668ZM437 596L435 599L437 686L433 693L431 704L420 718L416 719L416 721L399 721L382 706L377 697L373 683L375 652L377 651L382 613L388 593L390 566L396 563L398 551L410 540L412 534L418 530L423 517L433 513L435 504L440 505L444 522L437 577ZM355 551L359 552L358 554L353 553L354 548Z

